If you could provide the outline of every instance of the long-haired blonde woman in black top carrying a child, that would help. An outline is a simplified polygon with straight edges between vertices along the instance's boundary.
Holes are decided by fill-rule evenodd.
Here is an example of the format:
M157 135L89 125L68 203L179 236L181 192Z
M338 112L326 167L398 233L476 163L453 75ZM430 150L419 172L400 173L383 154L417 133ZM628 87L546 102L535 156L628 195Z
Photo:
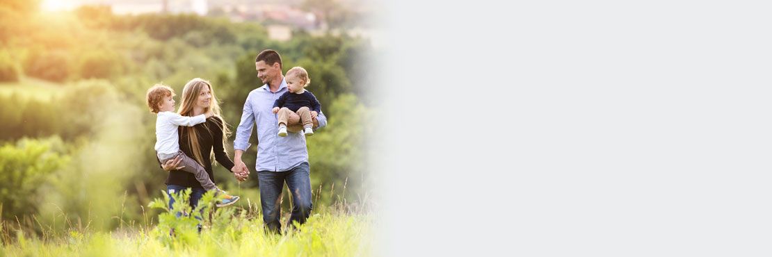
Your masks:
M215 97L215 91L212 85L204 79L191 79L185 84L182 90L182 103L179 113L182 116L194 117L201 113L212 110L215 116L210 117L205 123L200 123L193 127L179 127L180 150L188 157L192 157L199 164L204 166L209 178L216 183L212 174L212 155L215 160L233 172L233 161L225 153L225 139L230 134L228 124L220 116L220 106ZM162 164L164 171L169 171L166 178L166 190L169 194L178 194L187 188L191 188L190 205L195 208L198 200L206 192L201 184L195 178L194 174L177 171L180 163L177 159L172 159ZM174 205L174 199L169 199L169 208Z

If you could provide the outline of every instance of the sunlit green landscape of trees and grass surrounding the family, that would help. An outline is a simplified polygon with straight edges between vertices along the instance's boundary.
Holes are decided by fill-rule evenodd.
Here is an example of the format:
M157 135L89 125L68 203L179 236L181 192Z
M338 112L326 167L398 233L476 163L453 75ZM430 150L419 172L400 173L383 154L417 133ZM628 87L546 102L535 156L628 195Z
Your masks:
M370 255L378 218L365 138L374 129L367 113L378 110L364 93L377 52L368 39L295 29L277 41L260 22L118 15L103 5L42 12L39 4L0 2L2 255ZM308 90L328 120L307 140L312 217L285 235L263 231L253 130L242 159L252 178L212 167L218 187L242 200L202 207L199 234L195 215L176 218L162 204L167 174L145 92L164 83L180 95L188 80L206 79L233 130L246 96L262 86L254 59L263 49L282 54L283 72L309 71ZM281 208L286 222L289 200Z

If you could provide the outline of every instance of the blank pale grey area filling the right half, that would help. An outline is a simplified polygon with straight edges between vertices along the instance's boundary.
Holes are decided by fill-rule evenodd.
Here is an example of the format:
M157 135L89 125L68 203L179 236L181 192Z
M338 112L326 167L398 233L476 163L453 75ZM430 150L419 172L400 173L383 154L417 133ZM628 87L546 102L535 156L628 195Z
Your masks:
M772 254L770 6L621 2L384 2L378 255Z

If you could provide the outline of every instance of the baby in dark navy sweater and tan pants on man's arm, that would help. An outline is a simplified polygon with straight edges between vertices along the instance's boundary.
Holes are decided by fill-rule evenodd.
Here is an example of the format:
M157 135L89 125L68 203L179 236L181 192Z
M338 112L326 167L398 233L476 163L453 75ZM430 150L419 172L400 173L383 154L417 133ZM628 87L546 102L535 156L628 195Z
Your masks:
M273 113L279 113L279 137L287 135L287 118L291 113L297 113L300 116L300 122L303 123L303 133L306 137L313 136L313 117L317 117L321 112L322 105L313 93L303 89L311 83L306 69L303 67L293 67L289 69L285 76L287 82L287 92L279 96L279 99L273 103Z

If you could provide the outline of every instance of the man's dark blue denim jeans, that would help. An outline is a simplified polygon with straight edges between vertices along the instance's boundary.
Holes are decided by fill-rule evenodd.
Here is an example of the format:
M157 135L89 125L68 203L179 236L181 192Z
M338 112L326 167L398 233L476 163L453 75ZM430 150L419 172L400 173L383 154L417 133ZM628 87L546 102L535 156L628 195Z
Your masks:
M292 216L288 225L293 221L300 224L306 222L311 214L311 180L310 167L307 162L294 167L289 171L258 171L257 179L260 187L260 204L262 205L262 221L266 229L272 232L281 232L281 200L284 181L287 183L289 193L292 194Z

